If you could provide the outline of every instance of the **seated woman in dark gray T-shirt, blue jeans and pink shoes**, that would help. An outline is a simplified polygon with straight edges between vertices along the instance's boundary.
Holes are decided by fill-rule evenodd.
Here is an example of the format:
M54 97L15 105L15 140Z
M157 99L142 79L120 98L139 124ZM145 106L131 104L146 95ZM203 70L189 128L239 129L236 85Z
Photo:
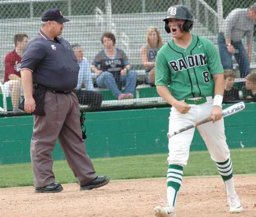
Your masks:
M115 47L116 38L113 33L103 33L101 42L105 49L94 57L91 64L92 71L97 74L97 86L108 88L116 99L133 99L137 81L136 71L130 70L130 61L125 52ZM124 85L123 94L121 89Z

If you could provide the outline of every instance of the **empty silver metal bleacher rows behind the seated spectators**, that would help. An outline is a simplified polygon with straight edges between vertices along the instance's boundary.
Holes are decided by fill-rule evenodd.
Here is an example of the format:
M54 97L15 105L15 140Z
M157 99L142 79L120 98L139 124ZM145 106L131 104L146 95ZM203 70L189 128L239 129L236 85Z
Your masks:
M167 42L170 35L164 30L162 21L165 12L138 13L138 14L112 14L112 26L110 31L116 35L116 47L123 49L132 66L140 66L140 47L145 44L145 33L149 26L159 29L163 41ZM68 17L70 22L65 23L63 38L71 44L80 43L84 47L85 56L89 61L103 48L101 35L106 31L106 19L99 22L95 15L79 15ZM195 20L194 34L206 36L213 42L217 42L217 36L210 33L203 25ZM0 22L0 66L3 71L4 57L7 52L14 49L13 36L16 33L26 33L32 38L40 28L40 18L30 19L6 19Z

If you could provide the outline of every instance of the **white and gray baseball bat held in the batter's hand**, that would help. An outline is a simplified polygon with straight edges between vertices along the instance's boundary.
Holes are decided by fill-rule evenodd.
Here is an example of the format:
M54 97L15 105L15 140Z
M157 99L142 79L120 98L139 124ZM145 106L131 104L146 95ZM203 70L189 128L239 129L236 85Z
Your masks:
M229 115L235 114L237 112L241 112L244 109L246 109L245 102L239 102L239 103L233 104L233 105L227 107L226 109L224 109L222 111L223 118L227 117ZM180 128L179 130L176 130L174 132L168 132L167 133L167 137L171 138L171 137L173 137L176 134L179 134L179 133L184 132L184 131L186 131L188 129L191 129L193 127L197 127L198 125L201 125L203 123L207 123L207 122L210 122L210 121L212 121L212 116L210 116L208 118L205 118L202 121L198 121L197 123L188 125L187 127Z

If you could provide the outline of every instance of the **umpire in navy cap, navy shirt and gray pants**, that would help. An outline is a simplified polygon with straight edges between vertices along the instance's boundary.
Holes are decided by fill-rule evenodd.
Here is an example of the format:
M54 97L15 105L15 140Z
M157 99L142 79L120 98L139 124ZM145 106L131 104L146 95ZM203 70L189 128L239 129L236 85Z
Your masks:
M109 182L106 176L97 176L82 139L79 104L72 91L79 65L69 42L60 37L68 21L59 9L44 11L41 29L27 43L21 61L24 110L34 114L30 154L35 193L63 190L52 170L51 152L57 139L80 190Z

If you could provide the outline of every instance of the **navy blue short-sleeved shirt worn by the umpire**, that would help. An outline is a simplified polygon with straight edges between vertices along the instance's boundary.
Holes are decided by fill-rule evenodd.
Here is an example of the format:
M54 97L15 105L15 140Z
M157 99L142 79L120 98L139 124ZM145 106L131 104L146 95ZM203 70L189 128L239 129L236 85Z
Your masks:
M80 66L68 41L52 41L42 30L29 40L21 58L21 70L32 72L33 83L54 90L73 90L77 86Z

